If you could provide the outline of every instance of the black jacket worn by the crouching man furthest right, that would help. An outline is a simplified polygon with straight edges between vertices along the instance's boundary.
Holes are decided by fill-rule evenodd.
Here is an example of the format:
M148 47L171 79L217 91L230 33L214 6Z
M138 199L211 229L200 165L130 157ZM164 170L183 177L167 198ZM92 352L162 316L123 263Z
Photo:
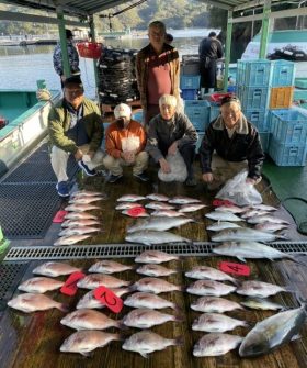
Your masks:
M264 160L260 136L257 129L242 114L236 131L229 138L221 115L208 127L200 147L202 174L212 172L212 154L216 153L228 161L248 160L248 177L258 179Z

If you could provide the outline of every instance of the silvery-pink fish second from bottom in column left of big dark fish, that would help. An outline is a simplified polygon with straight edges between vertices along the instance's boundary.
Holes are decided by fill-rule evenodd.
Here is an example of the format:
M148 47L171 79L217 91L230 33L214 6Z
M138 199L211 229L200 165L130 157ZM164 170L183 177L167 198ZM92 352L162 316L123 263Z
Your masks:
M239 326L248 327L249 324L246 321L231 319L228 315L219 313L204 313L194 320L192 330L203 332L226 332Z

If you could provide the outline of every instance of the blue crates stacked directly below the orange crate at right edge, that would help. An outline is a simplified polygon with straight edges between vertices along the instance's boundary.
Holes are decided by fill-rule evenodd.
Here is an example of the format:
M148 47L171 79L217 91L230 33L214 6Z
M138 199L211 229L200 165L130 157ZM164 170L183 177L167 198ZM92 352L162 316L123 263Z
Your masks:
M271 110L269 154L278 166L305 166L307 112L296 109Z

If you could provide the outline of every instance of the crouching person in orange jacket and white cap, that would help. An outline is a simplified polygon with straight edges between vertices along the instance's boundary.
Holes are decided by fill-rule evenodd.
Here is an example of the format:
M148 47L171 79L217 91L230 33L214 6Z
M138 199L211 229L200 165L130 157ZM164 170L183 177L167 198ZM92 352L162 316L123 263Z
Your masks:
M133 175L141 181L148 181L145 170L148 165L148 154L144 150L146 133L140 123L132 120L132 109L120 103L114 109L115 122L105 133L105 149L107 156L103 165L111 171L109 182L115 182L123 177L123 166L133 166Z

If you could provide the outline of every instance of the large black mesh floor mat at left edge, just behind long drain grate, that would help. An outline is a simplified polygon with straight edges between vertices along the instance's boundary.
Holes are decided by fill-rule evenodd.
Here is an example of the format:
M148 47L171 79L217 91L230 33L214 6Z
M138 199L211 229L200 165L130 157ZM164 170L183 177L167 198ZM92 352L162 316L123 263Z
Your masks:
M42 238L59 207L54 183L0 183L0 224L9 238Z

